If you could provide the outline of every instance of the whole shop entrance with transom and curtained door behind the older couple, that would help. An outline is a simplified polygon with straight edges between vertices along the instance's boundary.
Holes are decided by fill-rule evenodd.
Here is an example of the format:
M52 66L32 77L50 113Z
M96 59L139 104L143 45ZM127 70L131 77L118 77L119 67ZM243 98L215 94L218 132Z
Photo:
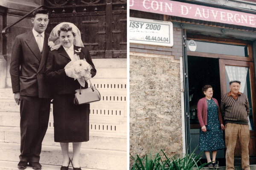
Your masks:
M188 40L189 41L189 40ZM188 87L189 87L189 117L190 117L190 150L194 150L199 144L200 125L197 119L197 103L204 95L201 89L204 85L212 85L213 98L221 103L221 96L230 91L229 82L238 79L241 84L240 91L247 94L250 103L250 164L256 163L255 146L255 72L251 45L248 43L221 44L207 40L195 40L198 42L198 51L187 51ZM211 45L211 49L207 45ZM222 45L225 45L223 48ZM215 49L214 49L215 48ZM225 50L224 50L225 49ZM210 53L209 53L210 52ZM198 154L201 151L197 150ZM204 153L202 161L206 161ZM220 166L225 166L225 149L218 150L216 158ZM235 150L235 165L241 164L241 152L239 142Z

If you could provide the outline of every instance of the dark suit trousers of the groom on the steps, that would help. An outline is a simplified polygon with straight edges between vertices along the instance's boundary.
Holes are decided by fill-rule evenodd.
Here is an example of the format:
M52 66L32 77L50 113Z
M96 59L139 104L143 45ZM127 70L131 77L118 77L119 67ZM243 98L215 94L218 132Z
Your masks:
M39 162L51 99L20 96L20 161Z

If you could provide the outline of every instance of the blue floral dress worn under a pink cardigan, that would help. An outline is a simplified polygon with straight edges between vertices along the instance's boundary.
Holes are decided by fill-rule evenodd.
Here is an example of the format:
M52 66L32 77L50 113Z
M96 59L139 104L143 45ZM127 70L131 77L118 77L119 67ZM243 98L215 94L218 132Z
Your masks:
M225 148L221 124L218 119L218 106L213 99L207 100L206 132L200 129L199 150L210 151Z

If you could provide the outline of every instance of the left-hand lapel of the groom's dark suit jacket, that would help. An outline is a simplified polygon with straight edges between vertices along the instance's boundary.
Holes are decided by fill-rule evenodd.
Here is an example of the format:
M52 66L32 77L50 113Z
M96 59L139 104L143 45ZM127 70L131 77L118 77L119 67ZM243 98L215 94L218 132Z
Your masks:
M27 36L25 42L29 46L30 50L35 55L35 57L38 59L38 61L41 61L42 54L39 50L38 44L35 40L35 37L34 37L32 31L28 32L28 36Z

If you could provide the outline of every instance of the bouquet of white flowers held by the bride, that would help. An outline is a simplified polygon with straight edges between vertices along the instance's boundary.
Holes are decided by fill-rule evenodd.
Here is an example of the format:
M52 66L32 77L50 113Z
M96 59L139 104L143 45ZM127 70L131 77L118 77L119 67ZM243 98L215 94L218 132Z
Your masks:
M76 54L74 54L74 60L67 63L64 69L68 77L72 77L75 80L77 79L83 87L85 81L92 78L92 74L90 74L92 66L86 59L80 59Z

